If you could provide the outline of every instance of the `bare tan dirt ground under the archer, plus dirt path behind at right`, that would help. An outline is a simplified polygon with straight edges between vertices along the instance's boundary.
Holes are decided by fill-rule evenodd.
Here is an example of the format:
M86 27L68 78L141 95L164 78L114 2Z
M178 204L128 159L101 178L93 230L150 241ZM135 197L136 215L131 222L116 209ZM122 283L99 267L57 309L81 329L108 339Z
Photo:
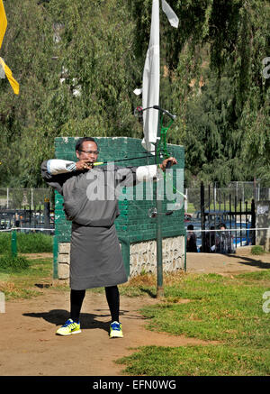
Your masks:
M248 248L232 256L188 253L186 267L187 272L231 276L270 268L270 253L253 256ZM95 293L85 296L82 333L58 336L56 329L68 318L69 292L37 289L42 293L40 297L5 302L5 313L0 313L1 376L123 376L123 366L114 361L138 346L209 344L184 335L147 331L147 320L138 309L160 302L155 298L121 297L124 337L110 339L105 296Z

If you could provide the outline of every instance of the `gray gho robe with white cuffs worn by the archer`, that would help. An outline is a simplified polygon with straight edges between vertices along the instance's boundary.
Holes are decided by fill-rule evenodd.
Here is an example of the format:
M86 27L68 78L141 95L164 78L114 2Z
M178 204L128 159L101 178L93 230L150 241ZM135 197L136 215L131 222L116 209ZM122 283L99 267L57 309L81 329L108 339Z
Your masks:
M73 161L46 160L41 176L64 197L67 220L72 221L70 288L91 289L127 281L114 220L120 215L120 187L161 178L156 165L140 167L100 166L70 171Z

